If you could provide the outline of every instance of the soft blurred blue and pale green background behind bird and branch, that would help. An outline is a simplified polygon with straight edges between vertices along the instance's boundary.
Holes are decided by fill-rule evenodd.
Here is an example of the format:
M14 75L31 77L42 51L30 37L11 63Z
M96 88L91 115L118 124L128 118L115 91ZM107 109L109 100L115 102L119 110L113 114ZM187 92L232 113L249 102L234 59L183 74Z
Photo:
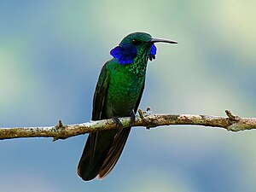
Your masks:
M82 123L109 50L156 44L140 108L255 117L255 1L0 1L0 127ZM0 191L256 191L256 131L134 129L113 172L76 174L86 136L0 142Z

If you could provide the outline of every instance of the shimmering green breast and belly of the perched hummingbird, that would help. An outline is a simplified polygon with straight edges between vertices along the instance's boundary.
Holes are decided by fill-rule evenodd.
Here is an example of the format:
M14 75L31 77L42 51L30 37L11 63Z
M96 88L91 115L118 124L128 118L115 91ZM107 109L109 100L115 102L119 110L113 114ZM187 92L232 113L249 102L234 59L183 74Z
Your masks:
M115 60L109 62L110 79L105 103L108 118L130 116L131 111L136 108L143 91L146 64L141 68L143 71L136 71L137 68L130 67L131 65L119 65Z

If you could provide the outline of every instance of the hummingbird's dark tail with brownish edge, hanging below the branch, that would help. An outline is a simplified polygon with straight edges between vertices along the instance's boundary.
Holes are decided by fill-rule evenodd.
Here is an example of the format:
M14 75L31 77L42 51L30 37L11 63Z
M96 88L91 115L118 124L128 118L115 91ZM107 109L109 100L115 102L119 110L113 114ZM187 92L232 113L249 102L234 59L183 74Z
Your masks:
M78 174L84 181L102 179L113 169L125 147L131 128L89 134L79 161Z

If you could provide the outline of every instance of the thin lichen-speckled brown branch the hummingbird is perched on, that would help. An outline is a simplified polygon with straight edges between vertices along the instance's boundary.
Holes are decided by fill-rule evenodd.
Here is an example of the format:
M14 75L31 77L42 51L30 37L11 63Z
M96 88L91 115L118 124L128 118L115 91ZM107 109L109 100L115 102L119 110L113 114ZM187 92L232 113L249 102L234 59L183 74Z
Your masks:
M241 118L234 116L229 110L225 113L227 117L211 115L193 114L154 114L148 108L146 112L138 110L132 126L144 126L147 129L161 125L203 125L224 128L227 131L244 131L256 129L256 118ZM0 128L0 139L12 139L20 137L53 137L66 139L93 131L103 131L111 129L125 129L131 126L131 118L119 118L121 126L117 125L113 119L89 121L76 125L62 125L61 120L55 126L38 127L15 127Z

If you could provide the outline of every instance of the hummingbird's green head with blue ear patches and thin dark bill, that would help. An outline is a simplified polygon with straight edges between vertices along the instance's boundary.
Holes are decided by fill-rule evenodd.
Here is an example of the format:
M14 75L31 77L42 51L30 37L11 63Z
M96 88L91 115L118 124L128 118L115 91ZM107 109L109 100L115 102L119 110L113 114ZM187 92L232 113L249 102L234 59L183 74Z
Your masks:
M156 55L154 43L158 42L177 44L172 40L152 38L145 32L133 32L127 35L117 47L113 48L110 55L113 55L113 58L117 59L121 65L131 64L136 57L148 57L152 61Z

